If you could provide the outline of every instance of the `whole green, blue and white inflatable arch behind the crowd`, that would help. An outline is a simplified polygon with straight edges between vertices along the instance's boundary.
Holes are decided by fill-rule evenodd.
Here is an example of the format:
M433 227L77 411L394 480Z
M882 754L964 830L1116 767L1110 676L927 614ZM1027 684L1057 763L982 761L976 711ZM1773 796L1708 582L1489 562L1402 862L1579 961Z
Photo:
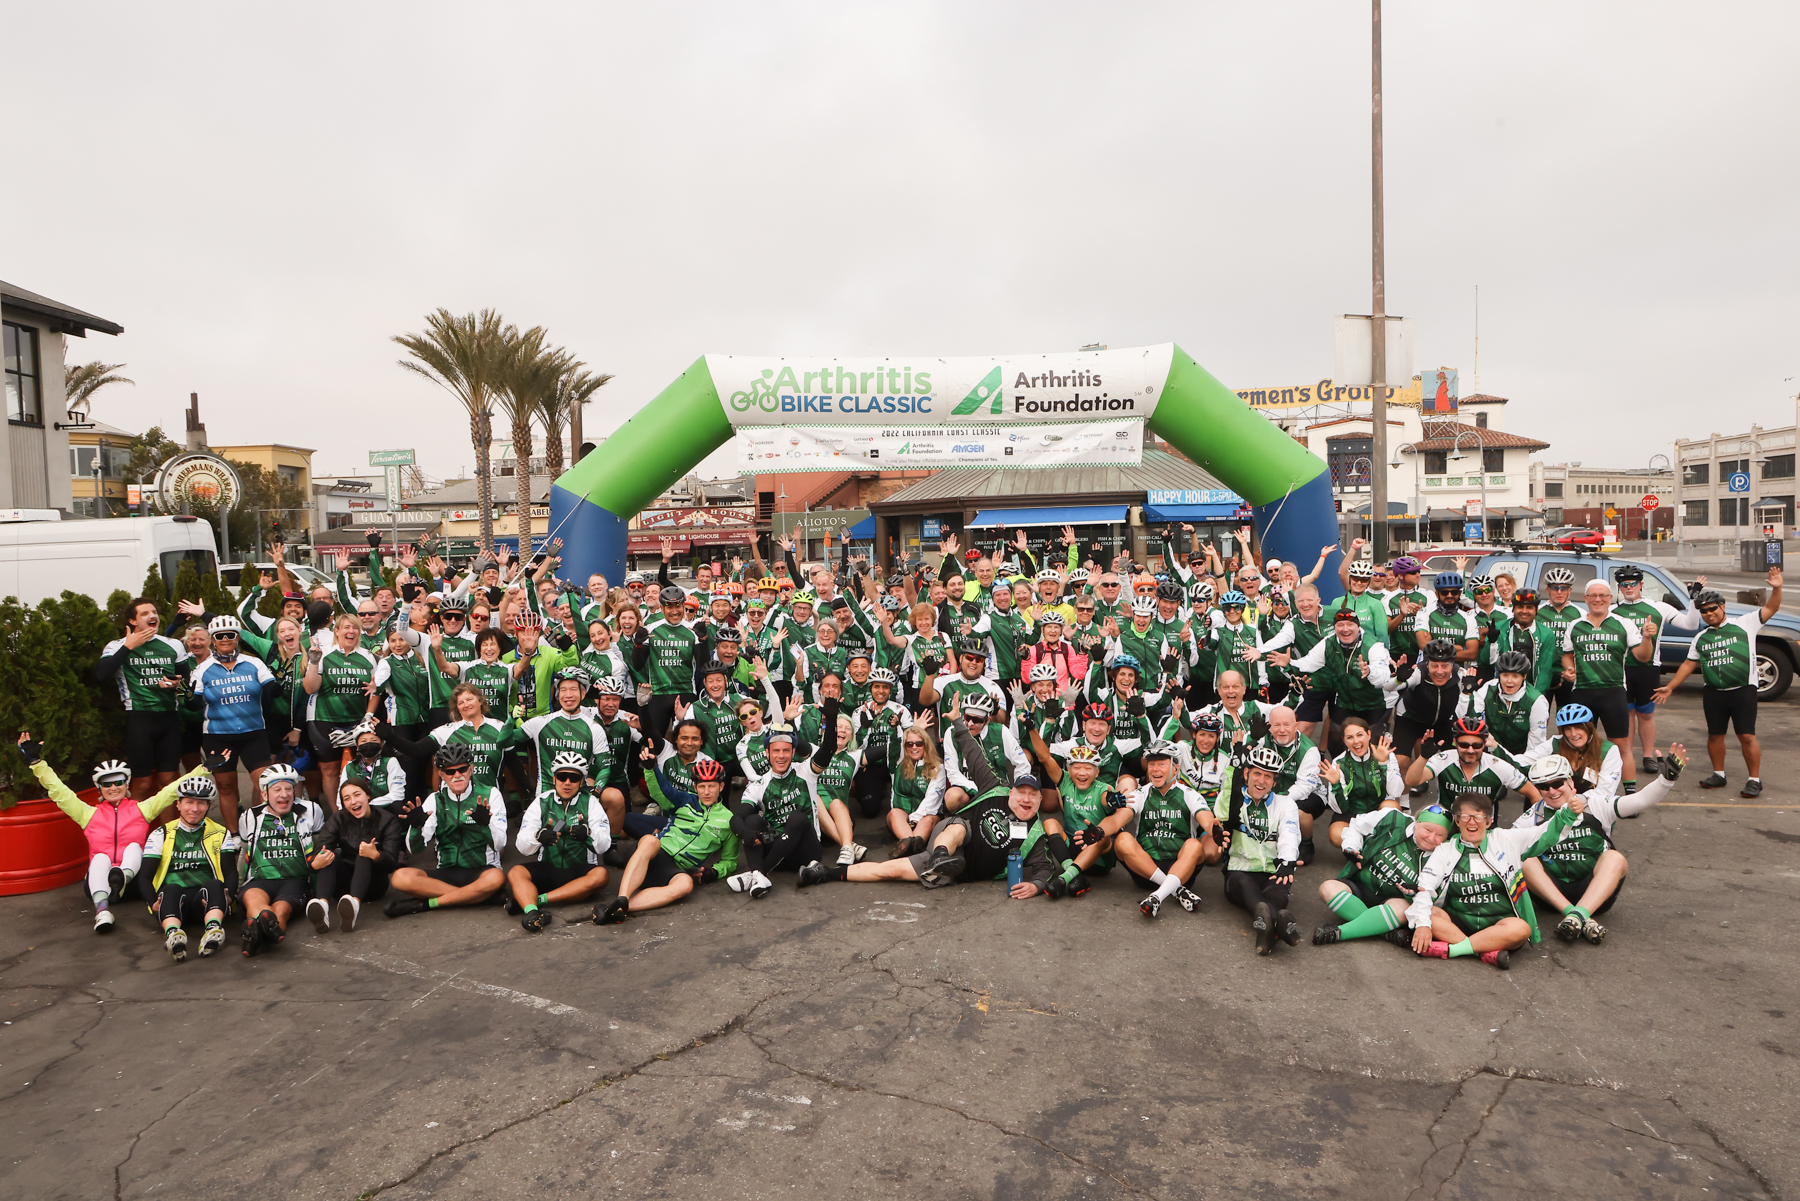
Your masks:
M745 427L923 434L945 423L994 429L1102 418L1147 420L1244 497L1265 556L1307 571L1319 547L1337 542L1325 463L1172 342L986 358L704 355L556 479L551 531L563 540L569 578L599 571L621 580L628 519ZM1337 562L1334 553L1321 576L1327 598Z

